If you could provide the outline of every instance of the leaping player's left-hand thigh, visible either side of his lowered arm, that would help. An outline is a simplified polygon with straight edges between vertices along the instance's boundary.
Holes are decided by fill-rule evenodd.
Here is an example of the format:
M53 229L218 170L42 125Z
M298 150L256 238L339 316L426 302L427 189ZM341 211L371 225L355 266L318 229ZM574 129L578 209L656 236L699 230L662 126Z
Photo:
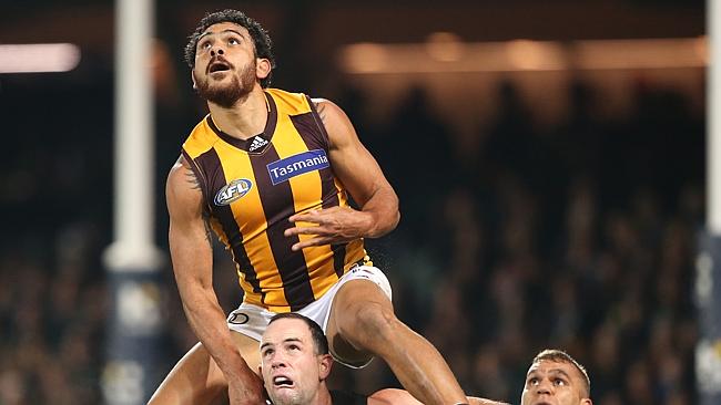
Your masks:
M231 332L241 355L253 371L260 363L258 342ZM162 382L149 405L214 404L227 395L227 382L203 344L197 343L181 359Z

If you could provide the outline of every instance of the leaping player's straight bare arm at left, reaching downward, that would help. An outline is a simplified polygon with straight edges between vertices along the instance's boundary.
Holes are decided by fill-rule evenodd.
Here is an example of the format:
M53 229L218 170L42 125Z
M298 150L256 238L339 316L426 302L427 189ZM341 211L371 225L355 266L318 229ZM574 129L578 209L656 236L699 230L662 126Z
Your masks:
M225 375L231 404L262 403L262 382L237 351L213 289L212 241L203 195L182 157L167 176L165 194L173 271L187 321Z

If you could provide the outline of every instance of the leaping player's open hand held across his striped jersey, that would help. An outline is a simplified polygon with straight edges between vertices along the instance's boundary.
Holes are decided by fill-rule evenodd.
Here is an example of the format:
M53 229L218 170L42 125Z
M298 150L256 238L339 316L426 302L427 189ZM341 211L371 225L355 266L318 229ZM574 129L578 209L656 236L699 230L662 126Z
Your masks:
M363 238L373 228L373 216L348 207L312 209L288 218L295 226L285 230L286 237L313 235L293 245L293 250L308 246L343 243Z

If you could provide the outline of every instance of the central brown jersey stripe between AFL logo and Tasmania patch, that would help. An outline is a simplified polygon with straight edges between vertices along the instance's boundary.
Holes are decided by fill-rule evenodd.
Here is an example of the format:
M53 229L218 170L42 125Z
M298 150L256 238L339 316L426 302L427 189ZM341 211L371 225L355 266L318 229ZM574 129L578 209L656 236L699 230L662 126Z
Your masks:
M288 238L283 235L286 229L293 227L287 218L294 214L295 207L291 183L282 181L275 186L271 183L267 165L278 159L275 146L271 145L264 154L253 156L251 164L267 221L268 243L281 280L283 280L285 300L291 307L291 311L297 311L313 302L315 297L303 252L291 250L291 247L297 243L299 238L297 236Z

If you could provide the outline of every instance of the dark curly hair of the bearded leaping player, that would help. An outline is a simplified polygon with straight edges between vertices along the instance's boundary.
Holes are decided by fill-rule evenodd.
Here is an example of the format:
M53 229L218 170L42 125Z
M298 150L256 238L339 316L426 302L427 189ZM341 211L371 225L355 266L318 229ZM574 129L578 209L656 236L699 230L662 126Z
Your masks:
M195 66L195 50L197 48L197 40L201 34L213 24L221 22L233 22L247 30L253 39L255 45L255 56L267 59L271 62L271 72L267 77L261 80L261 85L265 89L271 85L271 76L273 69L275 69L275 56L273 56L271 37L263 27L252 18L245 15L242 11L225 9L222 11L209 12L203 17L195 31L189 37L187 45L185 45L185 62L193 69Z

